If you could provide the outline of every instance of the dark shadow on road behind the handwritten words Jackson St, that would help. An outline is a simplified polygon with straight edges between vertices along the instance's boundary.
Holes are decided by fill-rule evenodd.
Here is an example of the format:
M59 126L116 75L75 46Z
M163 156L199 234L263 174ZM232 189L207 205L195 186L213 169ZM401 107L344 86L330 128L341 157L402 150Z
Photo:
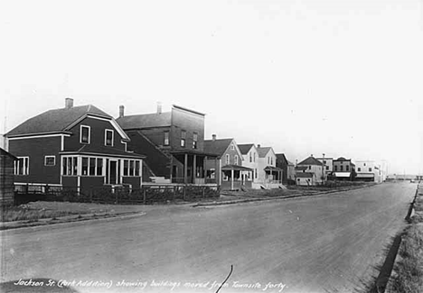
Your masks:
M0 283L2 293L79 293L76 289L62 286L57 279L16 279Z

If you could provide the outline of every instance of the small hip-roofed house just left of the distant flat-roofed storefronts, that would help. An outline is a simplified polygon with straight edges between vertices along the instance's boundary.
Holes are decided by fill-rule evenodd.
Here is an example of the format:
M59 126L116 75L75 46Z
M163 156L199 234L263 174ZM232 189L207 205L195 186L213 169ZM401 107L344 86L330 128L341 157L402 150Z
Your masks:
M296 185L315 186L324 183L324 165L310 156L296 165Z

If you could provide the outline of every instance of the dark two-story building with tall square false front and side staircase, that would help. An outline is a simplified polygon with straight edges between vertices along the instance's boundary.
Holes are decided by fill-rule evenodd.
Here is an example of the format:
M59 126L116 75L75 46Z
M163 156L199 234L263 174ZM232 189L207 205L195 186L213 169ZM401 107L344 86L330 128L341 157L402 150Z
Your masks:
M146 154L146 165L155 177L202 185L206 184L205 160L216 159L204 151L204 115L179 105L163 112L160 104L153 114L126 115L120 105L117 122L131 140L128 149Z

